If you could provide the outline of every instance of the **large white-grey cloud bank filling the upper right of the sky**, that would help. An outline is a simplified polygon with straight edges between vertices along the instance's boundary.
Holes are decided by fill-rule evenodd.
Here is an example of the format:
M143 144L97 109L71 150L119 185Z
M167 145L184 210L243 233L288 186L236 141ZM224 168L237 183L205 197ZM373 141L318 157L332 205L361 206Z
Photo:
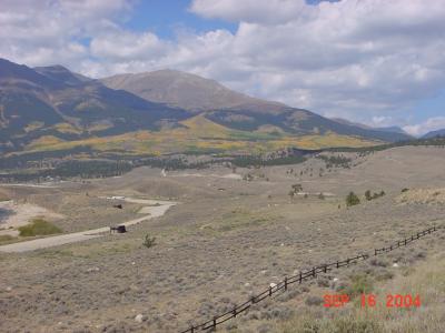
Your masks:
M234 64L207 72L225 82L226 75L247 71L241 82L230 83L245 92L370 119L407 110L445 84L443 1L243 3L196 0L191 10L239 21L226 52Z

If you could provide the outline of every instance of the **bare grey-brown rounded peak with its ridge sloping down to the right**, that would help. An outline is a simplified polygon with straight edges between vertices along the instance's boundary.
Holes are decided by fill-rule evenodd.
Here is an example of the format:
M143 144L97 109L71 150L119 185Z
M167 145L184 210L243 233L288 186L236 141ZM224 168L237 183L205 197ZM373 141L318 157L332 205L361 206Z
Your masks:
M238 130L254 131L269 125L299 135L332 131L389 142L411 139L402 130L392 132L333 121L308 110L251 98L215 80L175 70L118 74L100 81L109 88L130 91L148 100L194 113L206 112L212 121Z

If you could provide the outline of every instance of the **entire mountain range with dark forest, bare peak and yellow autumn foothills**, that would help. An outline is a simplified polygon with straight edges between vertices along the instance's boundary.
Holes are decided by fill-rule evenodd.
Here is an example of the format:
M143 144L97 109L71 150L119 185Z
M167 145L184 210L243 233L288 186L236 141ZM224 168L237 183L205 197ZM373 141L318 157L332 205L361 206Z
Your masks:
M160 70L95 80L65 67L0 59L3 154L89 147L106 153L318 149L411 139Z

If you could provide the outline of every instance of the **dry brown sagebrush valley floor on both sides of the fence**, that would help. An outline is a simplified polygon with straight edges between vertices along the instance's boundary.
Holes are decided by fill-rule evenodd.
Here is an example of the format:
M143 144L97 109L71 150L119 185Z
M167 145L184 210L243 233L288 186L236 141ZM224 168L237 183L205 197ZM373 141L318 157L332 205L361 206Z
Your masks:
M125 202L117 210L103 196L180 203L126 234L0 252L0 316L6 319L0 331L179 332L285 275L445 224L443 149L399 148L348 158L350 168L327 168L320 159L235 170L239 176L227 176L233 170L222 167L165 176L140 168L122 178L55 188L2 186L14 202L26 199L63 215L53 223L66 233L140 216L144 204ZM291 198L293 184L301 184L307 195ZM366 190L386 195L367 201ZM362 203L346 208L350 191ZM146 236L156 238L152 246L144 245ZM291 286L218 331L439 332L444 239L442 230L378 260ZM419 294L422 305L364 310L355 299L343 309L324 307L325 294L360 287L382 297Z

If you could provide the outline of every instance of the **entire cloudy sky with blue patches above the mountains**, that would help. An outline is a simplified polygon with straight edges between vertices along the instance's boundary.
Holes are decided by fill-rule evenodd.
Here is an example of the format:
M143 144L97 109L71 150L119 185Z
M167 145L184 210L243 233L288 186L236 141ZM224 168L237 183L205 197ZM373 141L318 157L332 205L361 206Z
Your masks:
M177 69L414 135L445 128L444 0L0 0L0 58Z

